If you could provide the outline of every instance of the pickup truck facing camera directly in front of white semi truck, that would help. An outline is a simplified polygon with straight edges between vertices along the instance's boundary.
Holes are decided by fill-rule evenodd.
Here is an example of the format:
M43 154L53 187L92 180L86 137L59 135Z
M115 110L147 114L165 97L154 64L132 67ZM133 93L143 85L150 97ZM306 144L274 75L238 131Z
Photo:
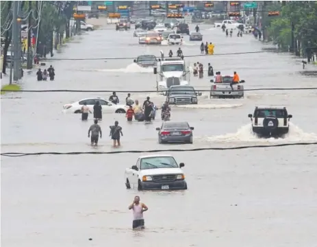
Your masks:
M168 104L198 104L198 97L201 93L195 91L193 86L170 86L164 92Z

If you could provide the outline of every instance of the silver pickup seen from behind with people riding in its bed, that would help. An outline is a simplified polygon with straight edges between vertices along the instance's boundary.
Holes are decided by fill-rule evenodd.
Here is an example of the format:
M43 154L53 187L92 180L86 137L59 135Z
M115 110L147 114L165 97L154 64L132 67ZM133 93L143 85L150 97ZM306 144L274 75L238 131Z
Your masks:
M241 80L239 83L233 84L231 89L230 83L232 82L233 77L230 75L223 76L223 82L216 83L215 80L210 80L214 83L210 89L210 98L242 98L244 97L244 86L241 83L244 83L244 80Z

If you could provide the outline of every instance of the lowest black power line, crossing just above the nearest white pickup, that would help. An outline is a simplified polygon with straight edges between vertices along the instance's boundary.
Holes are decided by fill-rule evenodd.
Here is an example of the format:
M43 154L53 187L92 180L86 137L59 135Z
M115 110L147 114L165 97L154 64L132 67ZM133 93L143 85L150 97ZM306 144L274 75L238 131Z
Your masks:
M230 148L192 148L192 149L170 149L170 150L126 150L126 151L110 151L110 152L34 152L34 153L19 153L19 152L3 152L1 156L8 157L20 157L20 156L38 156L38 155L79 155L79 154L126 154L126 153L156 153L156 152L196 152L196 151L207 151L207 150L242 150L249 148L279 148L287 147L292 145L317 145L317 142L313 143L283 143L277 145L245 145Z

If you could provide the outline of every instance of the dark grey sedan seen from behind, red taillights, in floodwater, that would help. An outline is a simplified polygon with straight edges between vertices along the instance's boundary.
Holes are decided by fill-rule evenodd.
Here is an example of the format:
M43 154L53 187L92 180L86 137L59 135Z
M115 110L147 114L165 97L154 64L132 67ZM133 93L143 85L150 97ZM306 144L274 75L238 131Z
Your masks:
M193 142L192 130L188 122L164 121L158 130L158 142L163 143L190 143Z

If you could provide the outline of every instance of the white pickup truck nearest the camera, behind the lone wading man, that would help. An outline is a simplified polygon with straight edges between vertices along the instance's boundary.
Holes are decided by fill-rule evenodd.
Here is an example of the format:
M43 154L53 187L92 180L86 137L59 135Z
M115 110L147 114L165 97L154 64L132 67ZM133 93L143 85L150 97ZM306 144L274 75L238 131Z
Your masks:
M142 190L187 189L185 175L175 158L169 154L138 157L136 165L125 169L125 187Z

